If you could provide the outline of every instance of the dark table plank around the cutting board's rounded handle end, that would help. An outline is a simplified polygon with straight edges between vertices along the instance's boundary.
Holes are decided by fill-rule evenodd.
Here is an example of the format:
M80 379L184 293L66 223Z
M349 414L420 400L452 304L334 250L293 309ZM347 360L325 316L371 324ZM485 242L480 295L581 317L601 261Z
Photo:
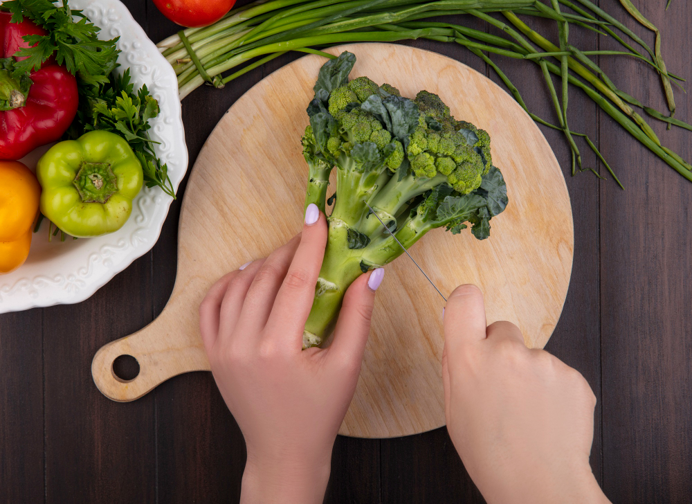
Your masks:
M153 400L121 408L98 393L89 372L90 350L151 321L151 307L140 303L151 296L150 267L140 258L132 277L118 274L84 303L44 310L47 504L156 498Z

